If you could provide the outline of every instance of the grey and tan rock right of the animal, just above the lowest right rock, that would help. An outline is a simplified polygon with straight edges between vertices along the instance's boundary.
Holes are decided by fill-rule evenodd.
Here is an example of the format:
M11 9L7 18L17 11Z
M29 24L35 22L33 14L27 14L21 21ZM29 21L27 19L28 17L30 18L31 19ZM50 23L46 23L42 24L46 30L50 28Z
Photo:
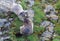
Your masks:
M52 33L54 32L55 25L49 21L43 21L40 26L44 27L46 30L49 30Z

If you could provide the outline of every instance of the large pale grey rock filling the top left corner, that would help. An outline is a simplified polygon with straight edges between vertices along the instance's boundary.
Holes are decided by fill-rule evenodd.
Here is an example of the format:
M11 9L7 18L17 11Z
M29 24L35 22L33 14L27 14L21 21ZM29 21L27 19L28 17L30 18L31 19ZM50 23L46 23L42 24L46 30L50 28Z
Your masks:
M9 11L14 2L15 0L0 0L0 9Z

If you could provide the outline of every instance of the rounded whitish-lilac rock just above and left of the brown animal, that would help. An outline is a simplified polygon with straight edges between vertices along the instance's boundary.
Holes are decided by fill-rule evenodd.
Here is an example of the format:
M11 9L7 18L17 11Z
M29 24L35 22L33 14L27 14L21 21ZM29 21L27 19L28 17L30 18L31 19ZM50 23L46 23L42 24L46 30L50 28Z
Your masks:
M20 15L21 12L23 12L23 8L20 4L14 3L11 9L12 12L14 12L17 16Z

